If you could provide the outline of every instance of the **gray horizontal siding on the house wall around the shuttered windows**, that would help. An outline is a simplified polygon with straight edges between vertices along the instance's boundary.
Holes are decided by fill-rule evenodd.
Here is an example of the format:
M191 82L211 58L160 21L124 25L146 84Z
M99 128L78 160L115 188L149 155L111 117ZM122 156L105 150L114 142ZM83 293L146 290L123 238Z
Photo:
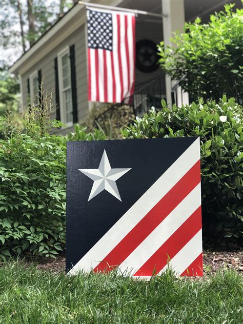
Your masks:
M27 72L22 75L23 87L23 104L28 107L28 78L36 70L42 70L43 89L49 94L52 93L53 113L52 117L56 117L55 112L55 71L54 58L59 51L65 47L75 46L75 71L76 71L76 91L77 91L77 115L78 120L83 119L88 112L87 98L87 64L86 64L86 40L85 40L85 25L78 28L72 36L65 39L54 50L49 52L37 64L32 66Z

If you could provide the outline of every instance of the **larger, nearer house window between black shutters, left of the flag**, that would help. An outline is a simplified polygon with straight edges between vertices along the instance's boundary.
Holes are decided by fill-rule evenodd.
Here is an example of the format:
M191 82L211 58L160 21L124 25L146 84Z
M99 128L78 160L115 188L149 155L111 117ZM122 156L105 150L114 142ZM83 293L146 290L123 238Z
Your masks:
M58 54L58 83L60 118L67 126L73 125L73 105L69 47Z

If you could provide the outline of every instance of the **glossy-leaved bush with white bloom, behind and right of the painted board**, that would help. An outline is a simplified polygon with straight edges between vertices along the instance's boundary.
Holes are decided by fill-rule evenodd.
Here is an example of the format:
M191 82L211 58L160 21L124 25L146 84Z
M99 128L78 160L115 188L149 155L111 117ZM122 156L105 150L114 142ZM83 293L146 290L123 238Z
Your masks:
M242 107L226 97L186 107L152 109L122 130L125 138L200 136L204 230L242 236Z

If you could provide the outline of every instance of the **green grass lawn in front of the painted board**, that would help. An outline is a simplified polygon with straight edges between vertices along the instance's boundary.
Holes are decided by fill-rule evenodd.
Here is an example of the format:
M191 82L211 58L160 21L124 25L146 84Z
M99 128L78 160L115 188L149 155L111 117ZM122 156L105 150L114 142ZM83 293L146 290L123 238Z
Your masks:
M0 323L242 323L242 276L150 281L66 276L9 262L0 268Z

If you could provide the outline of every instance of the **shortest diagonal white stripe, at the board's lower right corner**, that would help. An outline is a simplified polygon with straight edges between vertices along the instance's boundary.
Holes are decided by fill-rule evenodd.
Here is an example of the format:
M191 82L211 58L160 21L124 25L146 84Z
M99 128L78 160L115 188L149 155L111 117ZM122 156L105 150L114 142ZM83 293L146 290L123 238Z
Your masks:
M201 239L201 230L200 230L170 260L170 262L159 272L159 274L165 272L168 268L171 268L173 271L175 271L175 274L179 276L192 264L192 262L201 253L202 253L202 239Z

